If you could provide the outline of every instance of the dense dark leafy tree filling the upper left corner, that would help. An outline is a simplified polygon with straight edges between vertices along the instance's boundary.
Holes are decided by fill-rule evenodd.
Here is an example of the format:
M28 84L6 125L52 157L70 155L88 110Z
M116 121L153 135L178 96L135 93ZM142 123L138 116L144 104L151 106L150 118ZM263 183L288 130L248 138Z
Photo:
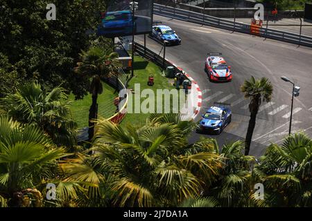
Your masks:
M74 73L73 68L80 50L89 48L90 41L96 39L96 35L86 33L96 30L107 2L55 0L56 20L48 21L46 5L51 1L1 1L0 59L6 59L6 72L14 73L10 76L16 81L36 79L47 90L62 85L76 98L86 95L88 79ZM2 85L0 81L0 93L8 92Z

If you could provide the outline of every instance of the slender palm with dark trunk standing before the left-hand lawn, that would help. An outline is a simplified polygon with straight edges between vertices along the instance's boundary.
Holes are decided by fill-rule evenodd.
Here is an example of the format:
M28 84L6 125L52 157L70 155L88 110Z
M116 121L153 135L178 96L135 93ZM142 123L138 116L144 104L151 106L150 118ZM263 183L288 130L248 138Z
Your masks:
M94 46L87 52L82 51L80 54L81 62L78 62L76 71L92 78L89 86L89 92L92 94L92 105L89 109L89 141L94 135L94 121L97 118L97 99L98 95L103 93L101 78L110 75L116 75L116 70L120 67L117 60L119 55L116 52L110 52L108 49Z

